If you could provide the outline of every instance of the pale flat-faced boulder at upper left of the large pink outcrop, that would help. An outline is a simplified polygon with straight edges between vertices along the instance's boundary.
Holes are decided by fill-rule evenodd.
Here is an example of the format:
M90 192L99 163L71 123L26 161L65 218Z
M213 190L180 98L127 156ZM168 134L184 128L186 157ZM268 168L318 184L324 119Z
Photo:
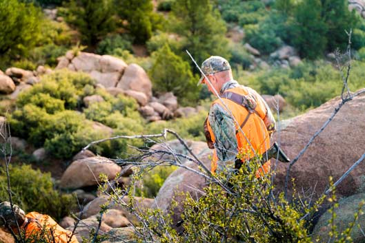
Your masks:
M92 70L101 71L99 61L101 56L97 54L80 52L78 56L72 59L71 63L77 71L91 72Z

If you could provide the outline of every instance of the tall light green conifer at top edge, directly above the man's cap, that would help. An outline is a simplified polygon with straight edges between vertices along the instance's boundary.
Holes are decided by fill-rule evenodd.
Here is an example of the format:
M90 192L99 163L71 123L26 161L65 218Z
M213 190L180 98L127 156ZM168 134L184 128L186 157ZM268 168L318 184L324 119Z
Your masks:
M172 28L184 37L184 50L189 50L197 63L211 55L230 58L224 38L226 25L210 0L175 1L172 13L177 19Z

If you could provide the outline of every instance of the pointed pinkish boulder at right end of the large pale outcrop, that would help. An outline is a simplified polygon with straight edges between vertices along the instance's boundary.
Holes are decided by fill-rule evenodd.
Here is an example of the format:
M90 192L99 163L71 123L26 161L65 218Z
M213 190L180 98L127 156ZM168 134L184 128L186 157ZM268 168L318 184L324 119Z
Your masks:
M124 90L132 89L143 92L148 98L152 96L152 83L150 78L148 78L144 69L135 63L126 67L117 87Z

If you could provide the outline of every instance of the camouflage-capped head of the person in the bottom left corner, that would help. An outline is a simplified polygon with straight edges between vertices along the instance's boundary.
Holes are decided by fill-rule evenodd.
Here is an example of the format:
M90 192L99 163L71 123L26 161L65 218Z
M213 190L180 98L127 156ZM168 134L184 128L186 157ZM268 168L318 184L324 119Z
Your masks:
M24 220L26 220L26 213L24 213L24 211L22 209L20 209L18 205L13 204L12 207L14 209L15 218L14 218L14 215L12 214L12 208L11 208L10 202L1 202L0 203L0 227L1 228L6 229L7 226L14 228L15 226L17 226L17 222L18 222L19 226L21 226L21 224L23 224Z

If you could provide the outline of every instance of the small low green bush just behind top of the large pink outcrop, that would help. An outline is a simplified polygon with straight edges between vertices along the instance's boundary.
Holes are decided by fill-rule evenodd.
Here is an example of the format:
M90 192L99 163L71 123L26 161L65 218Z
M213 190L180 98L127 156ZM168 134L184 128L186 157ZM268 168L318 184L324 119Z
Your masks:
M97 54L113 55L117 48L132 52L132 41L130 37L120 34L107 36L97 44Z

